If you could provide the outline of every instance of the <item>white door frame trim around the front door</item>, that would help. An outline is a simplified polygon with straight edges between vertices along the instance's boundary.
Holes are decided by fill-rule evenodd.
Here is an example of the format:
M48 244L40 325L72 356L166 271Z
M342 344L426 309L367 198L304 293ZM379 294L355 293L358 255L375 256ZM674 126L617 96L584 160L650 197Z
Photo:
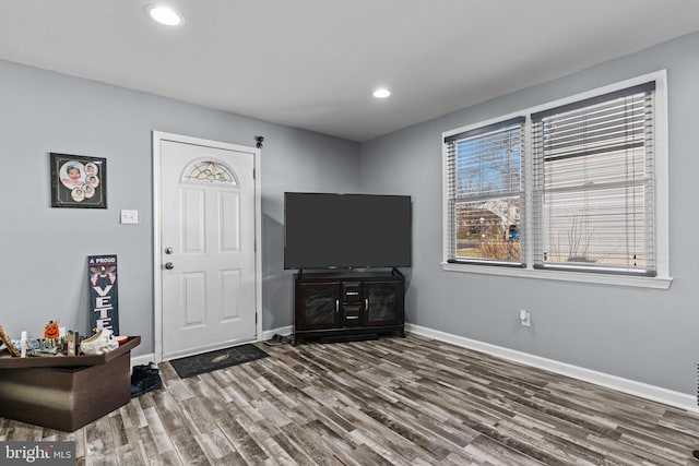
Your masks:
M155 362L163 361L163 274L162 274L162 212L161 212L161 142L171 141L183 144L201 145L236 152L251 153L254 167L254 312L257 314L257 340L262 339L262 210L260 196L260 150L242 145L190 138L181 134L153 131L153 342Z

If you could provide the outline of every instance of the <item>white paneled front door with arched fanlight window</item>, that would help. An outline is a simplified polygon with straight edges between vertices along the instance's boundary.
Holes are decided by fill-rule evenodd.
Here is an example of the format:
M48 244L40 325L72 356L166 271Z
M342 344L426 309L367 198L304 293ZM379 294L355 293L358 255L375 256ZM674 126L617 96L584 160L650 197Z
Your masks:
M257 153L193 141L156 140L163 360L253 342L258 334Z

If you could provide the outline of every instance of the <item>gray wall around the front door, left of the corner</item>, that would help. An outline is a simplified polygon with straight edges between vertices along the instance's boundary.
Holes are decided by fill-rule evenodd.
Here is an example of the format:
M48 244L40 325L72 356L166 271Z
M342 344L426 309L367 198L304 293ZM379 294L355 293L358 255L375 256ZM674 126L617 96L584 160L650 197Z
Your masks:
M153 353L153 130L254 146L261 154L263 327L292 324L283 270L284 191L354 192L359 145L181 101L0 61L0 325L42 335L87 328L86 256L119 258L122 334ZM108 208L51 208L48 153L107 158ZM135 208L140 225L120 225Z

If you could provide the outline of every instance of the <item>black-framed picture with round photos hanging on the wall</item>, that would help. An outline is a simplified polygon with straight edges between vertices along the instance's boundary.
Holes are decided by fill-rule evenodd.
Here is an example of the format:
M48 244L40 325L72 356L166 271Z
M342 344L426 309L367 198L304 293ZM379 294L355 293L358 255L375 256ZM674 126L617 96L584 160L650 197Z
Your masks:
M49 153L51 207L107 208L107 159Z

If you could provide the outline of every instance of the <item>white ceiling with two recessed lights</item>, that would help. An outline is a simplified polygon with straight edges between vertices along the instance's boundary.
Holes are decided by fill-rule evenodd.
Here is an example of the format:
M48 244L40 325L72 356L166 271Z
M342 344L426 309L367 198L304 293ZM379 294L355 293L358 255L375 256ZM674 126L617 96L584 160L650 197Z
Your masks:
M699 31L697 0L152 3L1 0L0 58L365 142Z

